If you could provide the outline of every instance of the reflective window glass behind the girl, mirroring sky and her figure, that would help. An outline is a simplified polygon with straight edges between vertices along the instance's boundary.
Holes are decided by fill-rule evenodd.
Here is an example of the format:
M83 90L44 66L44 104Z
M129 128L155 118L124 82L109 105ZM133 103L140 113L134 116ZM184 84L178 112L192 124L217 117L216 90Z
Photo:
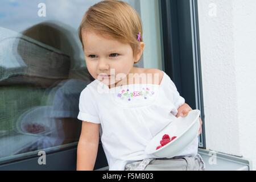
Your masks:
M79 97L94 79L77 28L99 1L1 1L0 164L79 140ZM158 1L126 2L143 21L146 47L136 66L163 69Z

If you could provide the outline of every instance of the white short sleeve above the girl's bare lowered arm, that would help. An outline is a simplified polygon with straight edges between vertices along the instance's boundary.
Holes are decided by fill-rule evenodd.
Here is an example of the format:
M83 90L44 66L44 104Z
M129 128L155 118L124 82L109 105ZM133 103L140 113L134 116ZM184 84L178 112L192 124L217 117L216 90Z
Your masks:
M82 90L79 98L79 115L77 116L81 121L100 123L98 117L98 110L96 107L96 100L92 97L90 90L86 87Z

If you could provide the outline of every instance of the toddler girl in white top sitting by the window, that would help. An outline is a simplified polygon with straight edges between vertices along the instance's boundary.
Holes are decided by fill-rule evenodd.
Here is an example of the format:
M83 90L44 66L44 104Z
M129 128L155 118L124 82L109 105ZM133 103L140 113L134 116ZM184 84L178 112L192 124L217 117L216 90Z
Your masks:
M94 168L99 139L109 170L204 169L197 138L172 159L144 152L179 107L189 106L165 72L134 67L144 43L141 19L133 7L122 1L93 5L82 18L79 35L86 66L96 80L80 94L77 169Z

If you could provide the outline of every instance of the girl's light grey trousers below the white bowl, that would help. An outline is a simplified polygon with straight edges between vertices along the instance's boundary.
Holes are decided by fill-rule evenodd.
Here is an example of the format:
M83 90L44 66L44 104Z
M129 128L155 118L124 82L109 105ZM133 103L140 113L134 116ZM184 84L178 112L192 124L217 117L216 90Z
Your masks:
M150 158L126 164L125 171L205 171L205 163L199 154L170 159Z

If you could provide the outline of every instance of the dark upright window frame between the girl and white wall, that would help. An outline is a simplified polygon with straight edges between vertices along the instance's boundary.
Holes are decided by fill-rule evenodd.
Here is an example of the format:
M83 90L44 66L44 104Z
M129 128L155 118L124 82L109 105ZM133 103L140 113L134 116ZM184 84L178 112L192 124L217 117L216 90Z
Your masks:
M204 102L201 79L197 0L161 0L164 71L192 109L201 111L205 148Z

